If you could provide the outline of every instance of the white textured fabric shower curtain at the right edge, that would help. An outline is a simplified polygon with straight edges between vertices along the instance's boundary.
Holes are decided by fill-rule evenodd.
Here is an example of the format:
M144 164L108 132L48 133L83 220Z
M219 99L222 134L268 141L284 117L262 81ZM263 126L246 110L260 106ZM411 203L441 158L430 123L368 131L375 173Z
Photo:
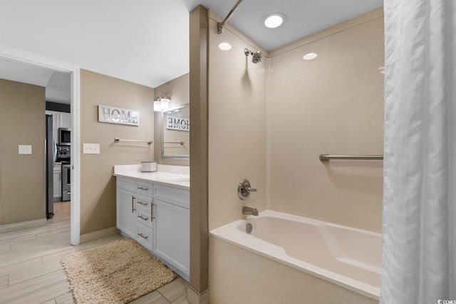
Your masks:
M384 10L380 303L456 303L456 1Z

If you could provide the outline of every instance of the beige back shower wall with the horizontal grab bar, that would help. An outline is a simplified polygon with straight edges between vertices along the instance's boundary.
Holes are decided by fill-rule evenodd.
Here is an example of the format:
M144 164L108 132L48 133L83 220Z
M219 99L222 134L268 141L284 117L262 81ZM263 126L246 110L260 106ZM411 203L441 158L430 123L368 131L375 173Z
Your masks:
M318 155L383 154L383 46L378 9L271 58L271 209L381 231L383 162Z

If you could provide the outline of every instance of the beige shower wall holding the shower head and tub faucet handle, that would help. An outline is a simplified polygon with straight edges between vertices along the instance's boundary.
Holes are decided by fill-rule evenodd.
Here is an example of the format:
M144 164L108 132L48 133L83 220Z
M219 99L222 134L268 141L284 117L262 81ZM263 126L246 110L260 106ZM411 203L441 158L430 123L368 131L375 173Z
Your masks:
M244 48L259 49L230 26L219 35L209 19L209 230L241 219L243 205L266 207L266 60L252 63ZM245 201L241 179L258 189Z

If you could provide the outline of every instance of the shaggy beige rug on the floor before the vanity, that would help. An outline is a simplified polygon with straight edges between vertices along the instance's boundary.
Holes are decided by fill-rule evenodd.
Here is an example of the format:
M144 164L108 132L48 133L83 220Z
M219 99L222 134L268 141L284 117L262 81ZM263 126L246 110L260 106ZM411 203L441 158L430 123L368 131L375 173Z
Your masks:
M65 256L61 261L78 304L128 303L175 278L132 239Z

